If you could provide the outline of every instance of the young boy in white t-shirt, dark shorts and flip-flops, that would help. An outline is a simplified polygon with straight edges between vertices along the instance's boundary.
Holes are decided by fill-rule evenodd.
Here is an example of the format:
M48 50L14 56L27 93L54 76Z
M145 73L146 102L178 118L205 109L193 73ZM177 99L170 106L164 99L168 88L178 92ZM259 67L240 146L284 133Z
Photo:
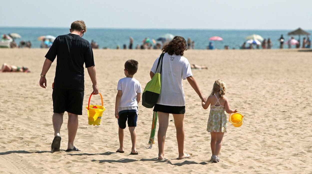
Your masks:
M118 81L116 104L115 104L115 117L118 119L118 136L119 136L119 149L118 153L124 153L124 129L126 128L126 121L128 119L128 127L131 134L131 155L137 155L136 151L136 133L135 127L138 119L138 103L141 99L141 84L138 80L133 78L134 74L138 71L138 61L127 60L124 63L124 75Z

